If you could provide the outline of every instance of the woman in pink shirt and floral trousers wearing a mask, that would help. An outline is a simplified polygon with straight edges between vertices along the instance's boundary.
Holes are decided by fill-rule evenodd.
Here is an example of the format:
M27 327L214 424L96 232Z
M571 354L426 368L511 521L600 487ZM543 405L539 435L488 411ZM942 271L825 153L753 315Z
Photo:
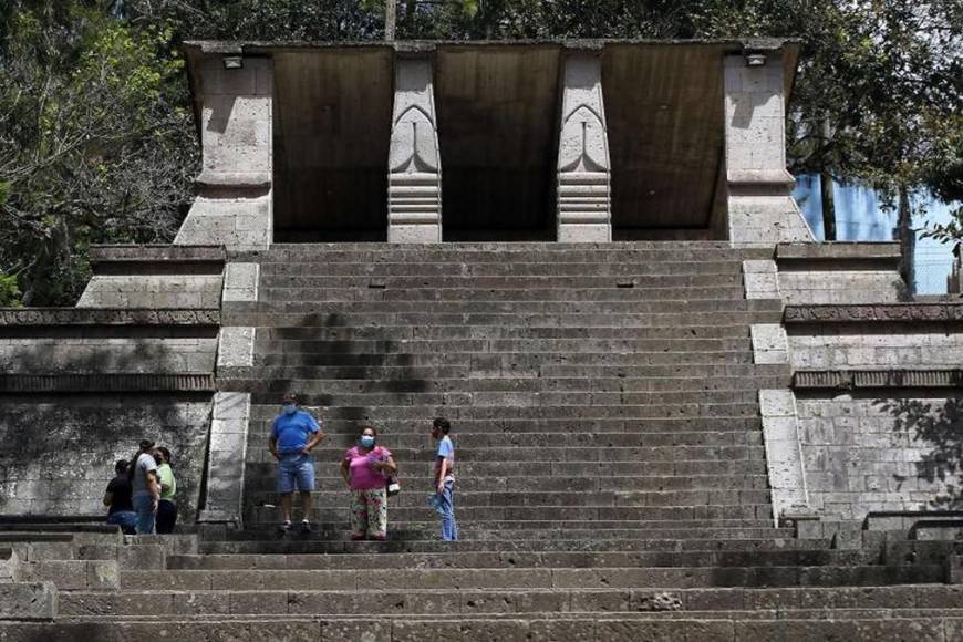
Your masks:
M351 539L387 537L387 478L397 473L391 451L375 445L377 431L364 428L344 454L341 476L351 489Z

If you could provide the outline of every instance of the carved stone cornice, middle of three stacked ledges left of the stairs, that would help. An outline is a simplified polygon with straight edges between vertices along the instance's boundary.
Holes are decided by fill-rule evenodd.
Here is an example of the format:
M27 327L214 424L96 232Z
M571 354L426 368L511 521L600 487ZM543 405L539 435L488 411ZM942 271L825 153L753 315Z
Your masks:
M0 328L44 325L220 325L220 310L0 308Z

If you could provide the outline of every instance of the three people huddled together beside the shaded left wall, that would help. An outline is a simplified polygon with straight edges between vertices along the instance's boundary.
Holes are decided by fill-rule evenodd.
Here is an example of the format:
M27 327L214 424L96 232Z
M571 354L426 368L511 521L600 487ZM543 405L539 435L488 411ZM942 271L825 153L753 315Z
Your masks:
M127 535L174 532L177 524L177 480L170 451L154 442L141 442L130 459L117 459L115 476L104 493L107 524Z

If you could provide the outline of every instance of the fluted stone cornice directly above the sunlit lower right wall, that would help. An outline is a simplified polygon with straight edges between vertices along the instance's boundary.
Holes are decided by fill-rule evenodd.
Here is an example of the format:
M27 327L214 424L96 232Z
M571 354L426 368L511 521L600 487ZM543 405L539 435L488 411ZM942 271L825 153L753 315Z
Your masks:
M963 370L799 370L794 390L963 387Z

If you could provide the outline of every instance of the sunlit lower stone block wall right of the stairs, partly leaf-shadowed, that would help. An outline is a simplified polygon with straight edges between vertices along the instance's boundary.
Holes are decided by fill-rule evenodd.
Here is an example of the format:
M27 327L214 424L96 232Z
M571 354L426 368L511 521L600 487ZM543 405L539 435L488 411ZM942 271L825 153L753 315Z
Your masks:
M796 406L809 499L824 518L950 508L963 499L959 395L799 394Z

